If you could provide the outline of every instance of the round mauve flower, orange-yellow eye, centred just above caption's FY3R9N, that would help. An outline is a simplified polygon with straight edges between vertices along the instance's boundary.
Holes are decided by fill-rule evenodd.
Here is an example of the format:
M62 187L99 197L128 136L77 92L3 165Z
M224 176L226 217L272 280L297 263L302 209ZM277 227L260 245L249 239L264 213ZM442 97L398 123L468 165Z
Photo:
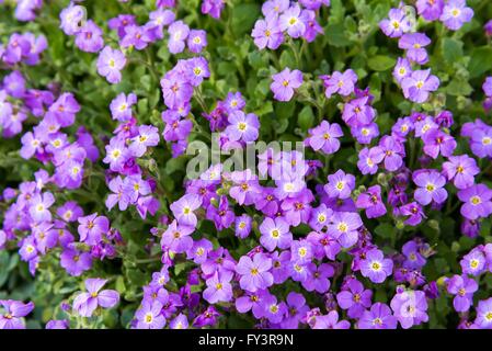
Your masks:
M255 293L265 290L273 284L273 275L270 273L272 259L263 253L256 253L253 259L241 257L236 265L236 272L241 275L239 284L241 288Z

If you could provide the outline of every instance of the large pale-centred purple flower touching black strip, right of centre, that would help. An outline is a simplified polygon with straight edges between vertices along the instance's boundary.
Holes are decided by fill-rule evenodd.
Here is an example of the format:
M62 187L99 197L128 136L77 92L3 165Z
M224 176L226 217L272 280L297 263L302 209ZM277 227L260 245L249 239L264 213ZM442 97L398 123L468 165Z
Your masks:
M390 306L403 329L428 320L427 299L424 292L403 291L397 293L391 299Z

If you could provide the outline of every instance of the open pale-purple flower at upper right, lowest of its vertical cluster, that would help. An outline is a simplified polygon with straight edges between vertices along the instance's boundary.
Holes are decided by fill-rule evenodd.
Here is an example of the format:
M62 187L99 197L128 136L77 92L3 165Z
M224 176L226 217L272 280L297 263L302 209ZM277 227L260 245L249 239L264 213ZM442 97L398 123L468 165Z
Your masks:
M401 81L401 88L407 99L423 103L428 100L430 92L439 88L439 79L431 75L431 69L414 70Z

